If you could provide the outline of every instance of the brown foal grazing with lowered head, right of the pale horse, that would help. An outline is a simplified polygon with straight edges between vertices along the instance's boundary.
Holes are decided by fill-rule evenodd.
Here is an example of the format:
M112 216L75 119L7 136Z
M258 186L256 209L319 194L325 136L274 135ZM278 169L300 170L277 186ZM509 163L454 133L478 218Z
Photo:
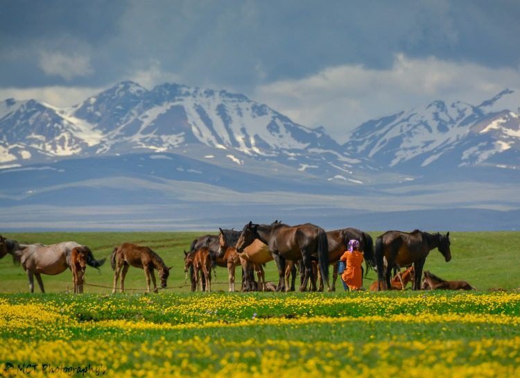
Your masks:
M125 276L128 273L128 268L133 266L135 268L144 269L146 277L146 289L150 293L150 277L153 282L153 291L157 293L157 284L155 282L154 268L159 271L159 279L161 280L161 288L166 288L166 280L170 275L170 269L164 261L157 255L157 253L150 250L148 247L136 246L132 243L123 243L121 246L114 248L110 256L112 261L112 270L114 270L114 287L112 293L116 292L117 281L121 275L121 293L125 291Z

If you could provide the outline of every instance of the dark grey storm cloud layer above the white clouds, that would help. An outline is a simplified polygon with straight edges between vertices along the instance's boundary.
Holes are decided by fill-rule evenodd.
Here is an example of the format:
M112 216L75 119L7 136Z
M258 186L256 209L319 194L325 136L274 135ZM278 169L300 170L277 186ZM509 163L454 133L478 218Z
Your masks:
M6 1L0 86L103 85L159 62L247 88L397 53L517 68L519 16L519 1Z

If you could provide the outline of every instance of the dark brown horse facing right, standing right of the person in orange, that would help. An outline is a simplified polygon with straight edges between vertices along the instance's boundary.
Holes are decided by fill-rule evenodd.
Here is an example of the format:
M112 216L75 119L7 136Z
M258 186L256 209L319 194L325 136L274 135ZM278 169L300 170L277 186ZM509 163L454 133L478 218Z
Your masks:
M428 234L414 230L413 232L387 231L376 239L377 281L379 290L390 287L390 273L397 266L414 264L415 280L413 289L421 289L422 268L426 257L433 248L442 253L446 261L451 260L449 232ZM387 261L386 269L383 258Z

